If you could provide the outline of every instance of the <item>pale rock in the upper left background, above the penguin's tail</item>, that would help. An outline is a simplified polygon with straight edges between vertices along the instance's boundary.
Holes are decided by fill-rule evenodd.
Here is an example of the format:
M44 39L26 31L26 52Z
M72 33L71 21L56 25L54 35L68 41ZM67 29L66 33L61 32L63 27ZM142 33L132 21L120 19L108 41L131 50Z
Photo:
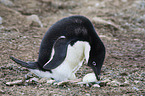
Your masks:
M33 22L37 23L37 24L39 24L40 27L43 27L43 24L37 15L27 16L27 20L31 23L33 23Z

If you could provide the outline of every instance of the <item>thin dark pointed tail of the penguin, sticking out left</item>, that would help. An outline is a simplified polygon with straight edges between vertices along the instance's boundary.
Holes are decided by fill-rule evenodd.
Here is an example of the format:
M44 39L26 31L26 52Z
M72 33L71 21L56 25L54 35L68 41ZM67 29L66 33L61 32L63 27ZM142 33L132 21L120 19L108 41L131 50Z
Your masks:
M22 60L19 60L19 59L16 59L15 57L13 56L10 56L10 59L12 59L14 62L16 62L17 64L23 66L23 67L26 67L26 68L29 68L29 69L37 69L37 62L24 62Z

